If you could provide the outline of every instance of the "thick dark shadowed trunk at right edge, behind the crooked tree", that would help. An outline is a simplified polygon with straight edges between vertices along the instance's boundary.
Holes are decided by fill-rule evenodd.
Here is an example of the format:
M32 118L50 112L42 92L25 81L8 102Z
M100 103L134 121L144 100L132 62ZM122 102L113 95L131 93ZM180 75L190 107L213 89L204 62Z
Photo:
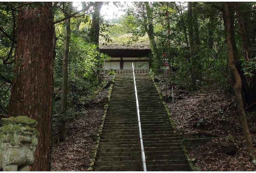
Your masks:
M250 62L253 62L253 58L255 58L255 26L254 22L251 21L254 19L255 14L248 13L247 11L251 11L255 7L254 3L236 2L234 8L238 13L237 23L241 34L242 50L245 52L243 55L243 62L245 64L243 85L246 86L244 102L245 104L251 105L256 102L256 85L254 85L256 83L256 68L250 67L255 65L255 63L249 65ZM241 64L239 64L238 67L239 70L243 72Z

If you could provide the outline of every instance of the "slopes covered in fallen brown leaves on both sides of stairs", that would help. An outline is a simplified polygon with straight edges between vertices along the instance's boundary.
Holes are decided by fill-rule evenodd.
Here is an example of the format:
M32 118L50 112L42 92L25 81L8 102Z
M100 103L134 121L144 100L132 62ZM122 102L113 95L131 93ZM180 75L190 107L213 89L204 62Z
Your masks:
M110 75L105 75L106 81L110 79ZM162 94L165 94L164 82L157 84ZM171 86L167 88L168 93L171 93ZM67 123L70 140L53 145L52 171L88 169L90 154L96 146L90 137L99 129L103 113L103 106L93 102L107 96L107 91L107 88L100 90L96 98L85 107L84 116ZM256 171L248 158L235 98L226 88L214 84L199 87L194 92L182 87L176 88L174 103L170 99L166 104L176 128L183 128L184 134L196 137L219 136L200 147L187 149L189 158L194 160L194 165L201 171ZM248 122L256 148L256 112L248 113ZM228 134L234 135L234 142L226 142Z

